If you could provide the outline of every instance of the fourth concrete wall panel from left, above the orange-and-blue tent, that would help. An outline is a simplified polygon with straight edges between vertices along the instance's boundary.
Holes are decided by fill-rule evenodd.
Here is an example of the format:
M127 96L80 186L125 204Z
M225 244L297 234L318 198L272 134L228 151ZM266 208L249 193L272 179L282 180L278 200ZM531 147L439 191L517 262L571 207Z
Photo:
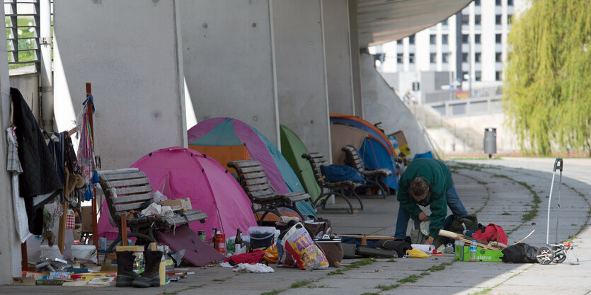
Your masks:
M355 113L355 100L348 0L323 0L322 6L328 110L351 115Z

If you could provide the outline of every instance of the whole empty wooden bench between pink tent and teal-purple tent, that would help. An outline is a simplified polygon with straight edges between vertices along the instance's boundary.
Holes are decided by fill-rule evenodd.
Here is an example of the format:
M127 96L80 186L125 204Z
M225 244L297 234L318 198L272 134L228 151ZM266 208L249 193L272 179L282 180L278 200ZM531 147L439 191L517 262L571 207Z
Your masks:
M310 195L306 192L277 193L269 183L263 166L260 166L256 160L230 161L228 167L236 169L239 183L253 203L253 213L264 212L258 221L259 224L263 223L268 213L281 216L277 210L280 207L292 209L299 216L304 217L295 203L310 199ZM260 208L255 208L254 204L260 205Z

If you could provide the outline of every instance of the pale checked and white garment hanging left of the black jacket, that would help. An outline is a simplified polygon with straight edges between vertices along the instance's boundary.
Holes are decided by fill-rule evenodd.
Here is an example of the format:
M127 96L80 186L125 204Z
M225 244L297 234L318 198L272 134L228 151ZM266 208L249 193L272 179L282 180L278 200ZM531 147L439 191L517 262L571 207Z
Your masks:
M25 209L25 199L18 196L18 175L23 173L21 161L18 160L18 147L16 146L15 127L6 129L6 139L8 141L8 155L6 170L11 174L12 181L12 207L14 214L14 223L16 224L16 233L21 243L25 243L31 236L29 231L29 222L27 219L27 210Z

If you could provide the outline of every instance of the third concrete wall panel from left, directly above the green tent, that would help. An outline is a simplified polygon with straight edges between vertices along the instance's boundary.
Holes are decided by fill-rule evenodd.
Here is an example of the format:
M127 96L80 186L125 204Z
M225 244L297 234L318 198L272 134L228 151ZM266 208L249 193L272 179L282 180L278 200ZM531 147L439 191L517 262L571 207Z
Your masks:
M280 122L331 158L321 0L272 0Z

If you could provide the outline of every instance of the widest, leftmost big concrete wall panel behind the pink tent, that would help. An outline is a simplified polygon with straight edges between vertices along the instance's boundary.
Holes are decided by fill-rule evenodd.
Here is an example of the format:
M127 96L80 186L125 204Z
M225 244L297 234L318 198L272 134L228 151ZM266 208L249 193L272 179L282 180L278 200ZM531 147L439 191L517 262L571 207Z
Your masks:
M54 5L54 111L70 129L92 83L103 169L186 145L174 0L64 0ZM179 36L179 37L177 37Z

